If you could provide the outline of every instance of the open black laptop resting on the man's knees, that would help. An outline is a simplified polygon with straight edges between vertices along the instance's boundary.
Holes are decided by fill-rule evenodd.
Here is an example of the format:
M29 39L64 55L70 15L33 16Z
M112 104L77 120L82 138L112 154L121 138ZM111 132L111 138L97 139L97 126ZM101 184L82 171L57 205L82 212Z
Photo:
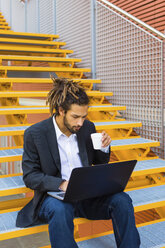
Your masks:
M72 170L66 192L47 192L65 202L76 202L124 191L137 160L86 166Z

